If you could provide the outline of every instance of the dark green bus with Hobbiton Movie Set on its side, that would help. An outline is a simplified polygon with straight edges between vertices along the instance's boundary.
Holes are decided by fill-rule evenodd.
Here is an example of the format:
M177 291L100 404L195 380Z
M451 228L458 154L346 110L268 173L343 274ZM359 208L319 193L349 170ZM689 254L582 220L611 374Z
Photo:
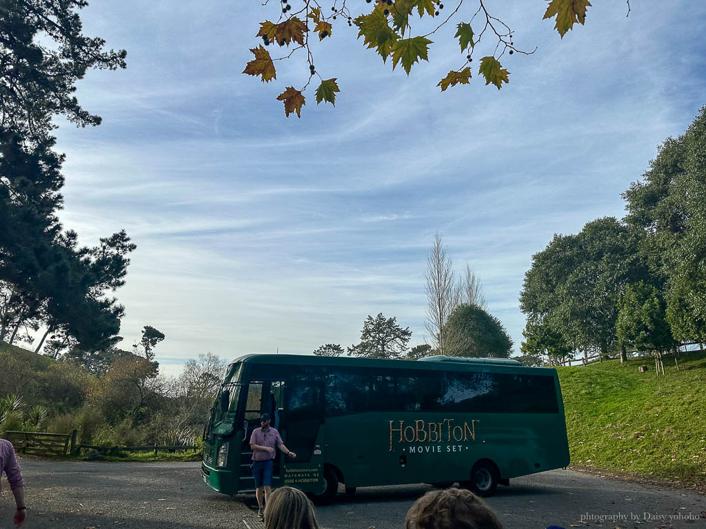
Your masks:
M356 487L431 483L490 496L510 478L568 466L556 370L515 360L245 355L229 365L204 430L203 481L254 490L250 435L261 413L278 451L273 487L313 501Z

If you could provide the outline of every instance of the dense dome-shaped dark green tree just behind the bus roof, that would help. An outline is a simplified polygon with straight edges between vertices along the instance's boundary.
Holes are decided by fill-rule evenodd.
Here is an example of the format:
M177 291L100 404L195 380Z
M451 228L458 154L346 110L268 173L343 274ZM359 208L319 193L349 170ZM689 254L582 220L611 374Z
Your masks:
M458 305L446 327L449 356L508 358L513 350L513 341L501 321L478 305Z

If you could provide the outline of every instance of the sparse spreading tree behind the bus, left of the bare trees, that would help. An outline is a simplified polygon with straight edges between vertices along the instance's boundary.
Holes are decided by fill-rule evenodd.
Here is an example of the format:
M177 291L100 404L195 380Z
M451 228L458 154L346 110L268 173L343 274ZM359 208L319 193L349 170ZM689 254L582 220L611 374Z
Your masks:
M402 329L397 318L386 318L380 312L368 316L360 333L360 343L348 348L348 355L366 358L402 358L412 337L409 327Z

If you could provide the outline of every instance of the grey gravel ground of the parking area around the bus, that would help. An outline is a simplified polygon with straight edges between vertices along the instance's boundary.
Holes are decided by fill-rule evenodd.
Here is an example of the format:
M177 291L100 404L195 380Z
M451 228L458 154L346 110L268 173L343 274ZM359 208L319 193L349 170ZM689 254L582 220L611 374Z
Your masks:
M254 497L210 490L201 482L201 463L20 464L30 506L23 529L246 529L244 521L256 527ZM432 488L365 487L352 499L340 494L317 513L322 529L403 528L407 509L427 490ZM11 528L14 509L4 478L2 497L0 529ZM498 487L489 504L506 529L550 524L567 529L706 529L703 491L667 490L573 470L512 480L510 487Z

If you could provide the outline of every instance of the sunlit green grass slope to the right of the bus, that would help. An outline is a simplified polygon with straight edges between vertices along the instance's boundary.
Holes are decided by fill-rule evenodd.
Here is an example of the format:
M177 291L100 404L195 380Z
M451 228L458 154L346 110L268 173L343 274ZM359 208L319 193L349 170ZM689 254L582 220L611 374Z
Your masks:
M571 463L706 485L706 353L678 360L558 367Z

